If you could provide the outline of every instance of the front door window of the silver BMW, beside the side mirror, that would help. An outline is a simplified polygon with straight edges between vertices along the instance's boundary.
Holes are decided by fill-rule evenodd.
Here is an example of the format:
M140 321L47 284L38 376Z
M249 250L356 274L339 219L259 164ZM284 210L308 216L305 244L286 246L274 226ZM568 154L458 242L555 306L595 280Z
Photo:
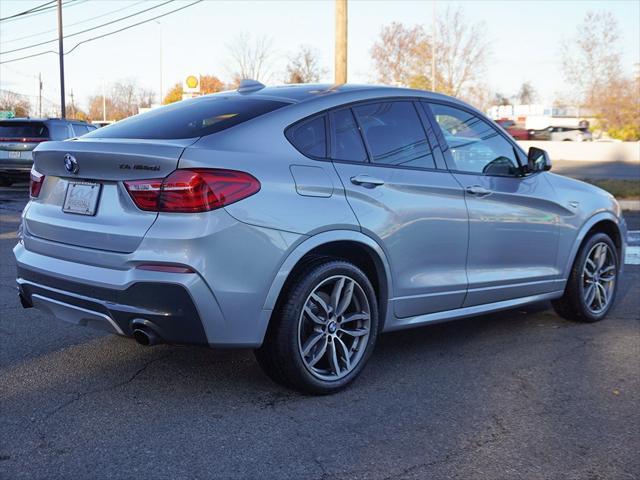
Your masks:
M494 176L516 176L520 170L513 145L488 122L465 110L430 104L442 130L452 170Z

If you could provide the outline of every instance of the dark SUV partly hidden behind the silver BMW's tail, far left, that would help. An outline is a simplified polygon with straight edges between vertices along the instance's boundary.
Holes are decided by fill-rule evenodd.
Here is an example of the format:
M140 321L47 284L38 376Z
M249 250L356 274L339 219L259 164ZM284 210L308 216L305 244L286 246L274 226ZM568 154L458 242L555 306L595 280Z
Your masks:
M32 151L40 142L79 137L95 129L86 122L58 118L0 120L0 186L29 180Z

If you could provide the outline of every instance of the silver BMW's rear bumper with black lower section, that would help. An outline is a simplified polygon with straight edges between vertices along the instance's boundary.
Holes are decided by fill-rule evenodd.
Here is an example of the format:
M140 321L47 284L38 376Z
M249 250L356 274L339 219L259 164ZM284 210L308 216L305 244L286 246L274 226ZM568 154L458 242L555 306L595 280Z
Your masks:
M28 251L22 244L14 253L23 306L61 320L124 336L132 336L142 326L165 343L190 345L215 345L213 331L224 325L215 297L195 273L69 265L65 260ZM65 278L60 272L73 272L74 278Z

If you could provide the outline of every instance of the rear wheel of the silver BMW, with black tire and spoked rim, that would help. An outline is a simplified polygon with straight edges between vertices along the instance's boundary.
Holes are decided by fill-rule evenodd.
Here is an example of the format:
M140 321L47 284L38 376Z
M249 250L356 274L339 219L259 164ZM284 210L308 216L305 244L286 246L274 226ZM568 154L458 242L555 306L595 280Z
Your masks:
M258 363L277 383L335 393L362 371L378 334L375 291L355 265L322 258L288 282Z

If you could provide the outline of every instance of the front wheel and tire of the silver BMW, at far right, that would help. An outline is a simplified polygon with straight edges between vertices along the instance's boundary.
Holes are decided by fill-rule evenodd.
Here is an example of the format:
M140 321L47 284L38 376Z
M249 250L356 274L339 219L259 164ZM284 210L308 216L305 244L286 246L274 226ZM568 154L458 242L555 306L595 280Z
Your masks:
M568 320L597 322L606 317L618 290L618 251L605 233L589 237L576 256L564 295L552 303Z

